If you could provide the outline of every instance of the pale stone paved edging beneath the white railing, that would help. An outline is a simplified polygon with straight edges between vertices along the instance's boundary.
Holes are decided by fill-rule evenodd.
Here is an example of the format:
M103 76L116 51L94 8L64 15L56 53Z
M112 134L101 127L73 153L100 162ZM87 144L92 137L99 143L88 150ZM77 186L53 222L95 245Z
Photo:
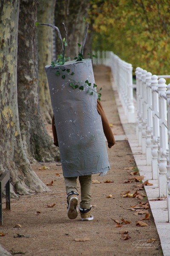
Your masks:
M128 124L127 117L124 113L124 109L118 97L117 88L112 78L111 82L112 89L115 93L115 101L118 109L119 118L123 126L126 138L130 144L130 148L132 150L139 173L140 175L144 175L144 180L148 179L149 182L153 184L153 186L145 186L145 191L150 203L150 209L153 214L156 229L161 241L163 255L170 256L170 223L167 222L167 200L150 201L150 199L155 199L159 197L158 181L152 179L152 168L150 165L146 165L146 155L141 153L141 146L138 146L138 140L136 138L137 123ZM136 104L135 100L134 104Z

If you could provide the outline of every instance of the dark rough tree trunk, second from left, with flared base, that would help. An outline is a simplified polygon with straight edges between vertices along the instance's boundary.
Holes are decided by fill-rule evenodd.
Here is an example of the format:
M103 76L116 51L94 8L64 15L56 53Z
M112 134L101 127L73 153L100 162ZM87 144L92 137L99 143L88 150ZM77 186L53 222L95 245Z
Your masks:
M20 0L18 24L18 109L23 146L30 161L59 157L40 114L37 85L37 0ZM44 71L45 73L45 71Z

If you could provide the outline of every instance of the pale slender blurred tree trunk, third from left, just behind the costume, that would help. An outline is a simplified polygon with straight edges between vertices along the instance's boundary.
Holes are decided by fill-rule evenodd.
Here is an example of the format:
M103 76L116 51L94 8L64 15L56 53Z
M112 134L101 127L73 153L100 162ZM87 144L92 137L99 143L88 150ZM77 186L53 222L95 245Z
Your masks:
M37 21L40 23L54 24L56 0L38 0ZM49 86L45 73L45 65L50 65L53 59L53 29L48 26L39 26L38 33L38 78L39 102L44 120L51 124L52 106Z

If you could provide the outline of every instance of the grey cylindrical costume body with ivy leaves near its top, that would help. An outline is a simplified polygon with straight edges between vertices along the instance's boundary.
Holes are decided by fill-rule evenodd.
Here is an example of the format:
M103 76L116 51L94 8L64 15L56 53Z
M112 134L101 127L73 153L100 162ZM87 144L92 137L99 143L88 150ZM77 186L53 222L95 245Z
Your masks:
M64 177L109 170L90 59L46 66ZM89 86L85 81L91 83ZM71 85L83 85L84 90ZM91 95L93 92L93 95Z

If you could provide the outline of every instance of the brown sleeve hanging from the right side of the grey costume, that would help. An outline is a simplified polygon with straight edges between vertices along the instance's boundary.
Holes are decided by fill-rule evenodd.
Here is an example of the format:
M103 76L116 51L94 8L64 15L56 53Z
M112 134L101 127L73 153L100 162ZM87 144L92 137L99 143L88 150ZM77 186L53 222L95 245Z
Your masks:
M103 125L104 135L107 138L108 147L111 148L115 144L115 138L112 133L112 129L109 126L109 122L107 120L106 114L102 108L100 100L97 100L97 110L99 115L101 115L101 121Z

